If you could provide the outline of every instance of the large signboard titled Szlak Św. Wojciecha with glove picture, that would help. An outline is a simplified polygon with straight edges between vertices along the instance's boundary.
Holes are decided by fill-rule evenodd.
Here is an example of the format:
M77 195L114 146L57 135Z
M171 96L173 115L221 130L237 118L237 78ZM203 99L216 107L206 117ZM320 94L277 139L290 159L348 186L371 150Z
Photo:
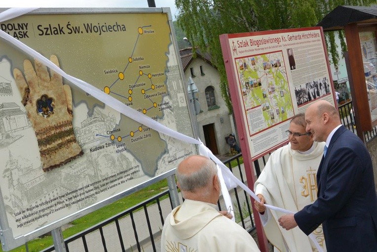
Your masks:
M54 11L0 28L67 74L193 136L169 13ZM0 200L14 237L143 184L194 152L0 41Z

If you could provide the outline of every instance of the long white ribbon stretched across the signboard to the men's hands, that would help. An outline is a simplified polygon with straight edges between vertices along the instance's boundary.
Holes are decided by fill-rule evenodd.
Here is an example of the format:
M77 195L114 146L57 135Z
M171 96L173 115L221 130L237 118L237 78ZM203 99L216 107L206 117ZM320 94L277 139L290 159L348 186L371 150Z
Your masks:
M0 22L4 22L6 20L24 15L30 11L33 11L38 8L10 8L0 13ZM56 73L60 74L62 77L66 78L68 81L70 81L72 84L83 90L84 92L89 93L99 101L103 102L104 104L108 105L109 107L113 108L117 112L131 118L132 120L135 120L136 122L148 126L160 133L169 135L171 137L174 137L176 139L182 140L187 143L191 144L198 144L199 145L199 154L211 158L216 164L218 168L218 174L220 178L220 182L222 184L222 194L223 198L226 204L226 208L231 210L231 213L233 215L234 220L234 211L233 211L233 205L230 199L230 195L228 192L228 189L236 187L236 185L240 186L243 190L245 190L253 199L260 202L259 198L255 195L255 193L250 190L244 183L242 183L238 178L236 178L233 173L227 168L223 162L221 162L210 149L208 149L201 141L196 140L192 137L189 137L185 134L182 134L180 132L177 132L175 130L172 130L156 121L151 119L150 117L144 115L143 113L138 112L137 110L132 109L131 107L128 107L127 105L123 104L122 102L118 101L117 99L113 98L111 95L106 94L102 90L98 89L97 87L88 84L80 79L77 79L71 75L68 75L65 73L62 69L57 67L54 63L52 63L50 60L45 58L43 55L41 55L39 52L35 51L34 49L30 48L26 44L20 42L19 40L14 39L12 36L8 35L7 33L0 30L0 37L12 43L14 46L18 47L25 53L29 54L30 56L38 59L41 63L46 65L48 68L54 70ZM277 210L284 213L294 213L292 211L288 211L285 209L273 207L270 205L265 204L265 206L271 210ZM314 235L310 234L309 238L314 242L317 250L319 252L322 252L322 248L319 246L317 241L315 240Z

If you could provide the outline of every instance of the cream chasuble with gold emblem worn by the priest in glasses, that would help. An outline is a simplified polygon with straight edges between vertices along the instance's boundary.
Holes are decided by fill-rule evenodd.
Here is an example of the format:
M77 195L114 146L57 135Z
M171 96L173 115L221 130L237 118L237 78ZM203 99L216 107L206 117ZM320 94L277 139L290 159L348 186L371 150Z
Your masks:
M266 166L254 186L256 195L262 194L266 204L297 212L317 199L316 173L323 155L325 143L314 142L309 154L291 149L291 144L271 154ZM310 239L295 227L289 231L279 226L277 219L285 213L266 210L260 215L264 232L281 252L317 251ZM322 225L314 232L319 245L326 251ZM289 250L287 250L287 248Z

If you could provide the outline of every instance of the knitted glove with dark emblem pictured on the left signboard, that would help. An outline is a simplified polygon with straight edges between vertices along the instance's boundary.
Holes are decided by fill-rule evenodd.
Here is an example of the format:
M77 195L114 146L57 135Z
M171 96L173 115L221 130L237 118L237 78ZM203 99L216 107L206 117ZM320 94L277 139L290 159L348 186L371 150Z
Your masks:
M59 67L58 58L50 60ZM72 92L63 78L35 60L35 70L24 60L24 74L15 68L13 77L20 90L28 118L37 136L43 171L60 167L83 154L72 125Z

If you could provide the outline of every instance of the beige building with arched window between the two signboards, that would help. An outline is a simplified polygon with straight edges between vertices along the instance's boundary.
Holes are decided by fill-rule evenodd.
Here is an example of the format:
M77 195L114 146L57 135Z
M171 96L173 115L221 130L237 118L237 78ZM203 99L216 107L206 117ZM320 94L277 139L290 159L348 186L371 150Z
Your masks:
M186 82L191 77L198 87L196 98L200 103L200 113L196 118L199 138L213 154L229 153L226 137L236 132L232 115L229 115L221 96L219 72L207 53L202 55L196 51L194 58L192 48L187 48L180 50L180 55Z

